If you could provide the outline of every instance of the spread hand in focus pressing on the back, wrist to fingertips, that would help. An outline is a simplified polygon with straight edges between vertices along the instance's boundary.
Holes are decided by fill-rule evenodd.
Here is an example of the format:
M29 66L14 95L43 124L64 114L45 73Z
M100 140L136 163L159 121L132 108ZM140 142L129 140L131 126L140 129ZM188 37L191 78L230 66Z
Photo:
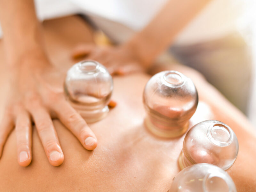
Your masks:
M65 72L52 66L43 52L30 52L9 66L11 86L0 124L0 156L9 133L15 127L18 163L21 166L29 165L34 122L50 164L62 164L64 156L52 118L58 118L84 148L96 148L94 133L65 100Z

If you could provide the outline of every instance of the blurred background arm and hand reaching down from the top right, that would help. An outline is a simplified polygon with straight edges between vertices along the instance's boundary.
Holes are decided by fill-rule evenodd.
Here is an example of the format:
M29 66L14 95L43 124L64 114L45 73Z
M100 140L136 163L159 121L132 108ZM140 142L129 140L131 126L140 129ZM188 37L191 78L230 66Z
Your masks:
M86 55L117 73L138 70L140 65L148 68L210 1L169 0L145 28L123 45L114 48L81 45L74 51L73 57Z

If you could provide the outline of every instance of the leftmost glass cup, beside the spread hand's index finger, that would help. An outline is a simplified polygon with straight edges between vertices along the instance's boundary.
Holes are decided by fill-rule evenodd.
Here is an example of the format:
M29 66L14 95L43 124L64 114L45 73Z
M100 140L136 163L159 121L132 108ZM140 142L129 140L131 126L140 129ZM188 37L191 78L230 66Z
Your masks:
M104 118L113 91L113 80L99 62L84 60L73 65L64 83L66 98L87 123Z

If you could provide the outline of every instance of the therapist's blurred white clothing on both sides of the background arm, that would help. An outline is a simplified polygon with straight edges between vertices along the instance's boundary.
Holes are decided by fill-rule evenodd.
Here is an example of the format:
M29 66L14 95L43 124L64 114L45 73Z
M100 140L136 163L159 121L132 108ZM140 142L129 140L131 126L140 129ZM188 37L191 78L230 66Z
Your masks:
M77 13L85 14L112 39L124 42L145 27L167 1L35 0L35 3L40 20ZM212 0L180 32L175 44L194 44L217 39L236 31L238 8L236 0Z

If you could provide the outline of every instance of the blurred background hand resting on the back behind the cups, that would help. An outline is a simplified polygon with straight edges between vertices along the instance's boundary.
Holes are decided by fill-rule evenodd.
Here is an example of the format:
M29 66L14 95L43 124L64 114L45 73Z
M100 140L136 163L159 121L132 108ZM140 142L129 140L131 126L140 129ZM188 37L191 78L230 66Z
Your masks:
M143 62L128 44L121 46L78 45L73 59L92 59L105 65L112 75L124 75L146 70Z

